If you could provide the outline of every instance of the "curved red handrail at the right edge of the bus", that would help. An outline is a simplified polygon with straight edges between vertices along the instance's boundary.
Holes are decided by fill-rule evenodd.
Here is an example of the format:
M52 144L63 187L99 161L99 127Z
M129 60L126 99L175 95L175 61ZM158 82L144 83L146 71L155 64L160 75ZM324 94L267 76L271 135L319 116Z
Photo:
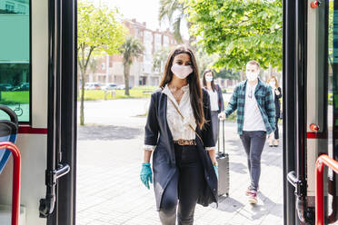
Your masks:
M324 166L331 168L338 173L338 161L333 160L328 155L321 155L315 163L315 224L324 225L323 210L323 169Z

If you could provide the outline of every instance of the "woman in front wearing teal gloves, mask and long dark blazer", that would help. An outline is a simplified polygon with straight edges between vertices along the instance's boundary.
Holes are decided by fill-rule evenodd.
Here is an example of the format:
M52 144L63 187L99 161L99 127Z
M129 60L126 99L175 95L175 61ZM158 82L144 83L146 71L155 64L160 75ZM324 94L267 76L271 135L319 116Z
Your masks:
M217 161L210 101L201 88L192 50L177 46L168 56L161 89L151 96L144 134L141 180L152 182L162 224L194 223L196 203L217 202Z

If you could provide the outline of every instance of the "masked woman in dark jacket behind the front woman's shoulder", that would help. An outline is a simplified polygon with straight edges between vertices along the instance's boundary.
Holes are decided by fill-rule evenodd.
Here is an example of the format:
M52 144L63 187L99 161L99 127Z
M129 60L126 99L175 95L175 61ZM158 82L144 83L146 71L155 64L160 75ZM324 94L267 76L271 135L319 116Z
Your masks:
M224 100L222 90L218 84L214 84L214 72L205 70L203 73L204 89L210 96L211 118L213 123L214 142L218 140L218 114L224 112Z

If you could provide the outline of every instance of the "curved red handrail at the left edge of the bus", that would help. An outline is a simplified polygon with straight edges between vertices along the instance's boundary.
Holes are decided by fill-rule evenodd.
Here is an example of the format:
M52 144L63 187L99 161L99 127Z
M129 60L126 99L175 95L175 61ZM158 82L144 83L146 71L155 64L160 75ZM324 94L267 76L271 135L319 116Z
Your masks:
M7 149L13 155L13 192L12 192L12 225L19 224L20 214L20 177L21 177L21 154L13 142L0 142L0 150Z

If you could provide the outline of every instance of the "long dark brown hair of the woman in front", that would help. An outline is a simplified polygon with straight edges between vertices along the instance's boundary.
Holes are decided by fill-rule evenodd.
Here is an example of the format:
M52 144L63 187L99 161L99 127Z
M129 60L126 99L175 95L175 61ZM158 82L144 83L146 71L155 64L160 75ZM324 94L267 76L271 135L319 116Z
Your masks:
M203 128L205 123L204 110L203 110L203 95L200 79L198 76L198 66L196 58L194 57L193 51L185 45L178 45L174 50L168 55L166 64L164 66L164 74L162 76L162 81L160 87L164 88L167 83L170 83L173 80L173 72L171 70L173 66L174 56L177 54L189 54L190 60L192 63L193 73L190 73L186 80L189 83L190 90L190 102L192 104L194 118L200 129Z

